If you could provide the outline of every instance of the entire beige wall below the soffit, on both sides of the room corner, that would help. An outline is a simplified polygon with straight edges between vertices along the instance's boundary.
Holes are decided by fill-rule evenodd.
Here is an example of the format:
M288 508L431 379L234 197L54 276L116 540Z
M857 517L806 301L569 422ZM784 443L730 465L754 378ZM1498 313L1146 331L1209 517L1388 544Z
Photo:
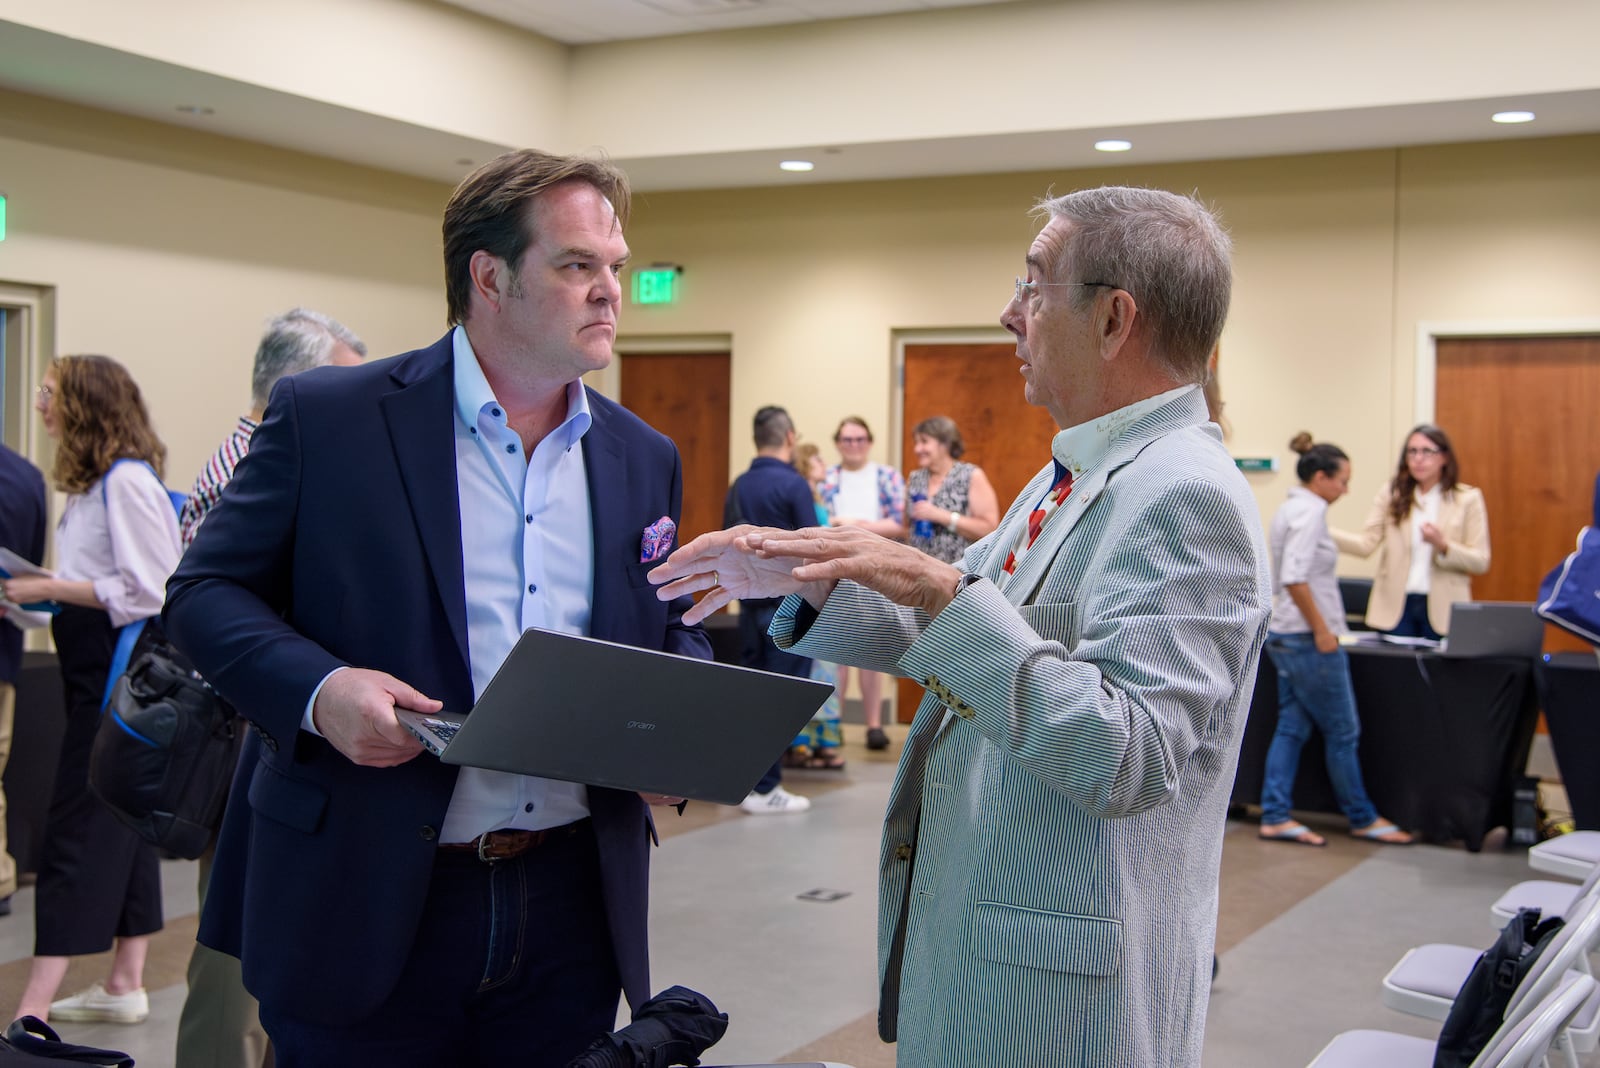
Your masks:
M1301 428L1341 443L1355 484L1336 523L1360 520L1414 419L1419 321L1597 317L1600 137L1586 136L643 195L635 262L683 264L683 297L626 309L624 341L731 337L734 468L763 403L787 404L818 440L861 412L888 457L896 331L992 329L1032 200L1109 181L1194 189L1222 211L1234 451L1286 462ZM54 288L58 352L130 365L173 484L245 406L274 312L326 310L374 353L443 329L442 185L0 94L0 281ZM1291 478L1253 476L1264 515Z

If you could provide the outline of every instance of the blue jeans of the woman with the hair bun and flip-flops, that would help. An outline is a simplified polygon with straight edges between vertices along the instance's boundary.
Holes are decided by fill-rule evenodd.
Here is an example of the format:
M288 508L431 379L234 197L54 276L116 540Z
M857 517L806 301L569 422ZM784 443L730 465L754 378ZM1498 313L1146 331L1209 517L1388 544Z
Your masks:
M1362 724L1355 718L1349 654L1344 649L1317 652L1309 633L1274 633L1267 635L1267 656L1278 671L1278 729L1267 747L1261 780L1261 822L1288 822L1301 748L1315 726L1322 731L1333 796L1350 827L1370 825L1378 819L1378 809L1366 796L1355 755Z

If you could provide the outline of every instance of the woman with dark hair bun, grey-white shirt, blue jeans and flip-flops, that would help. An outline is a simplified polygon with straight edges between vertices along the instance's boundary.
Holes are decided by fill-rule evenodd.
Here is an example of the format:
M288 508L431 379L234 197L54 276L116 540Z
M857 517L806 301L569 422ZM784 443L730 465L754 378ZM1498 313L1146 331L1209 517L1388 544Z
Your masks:
M1315 726L1322 731L1328 780L1350 820L1350 835L1403 846L1411 836L1378 815L1362 782L1349 654L1339 646L1344 600L1334 566L1339 550L1328 536L1328 505L1350 489L1350 459L1336 444L1312 444L1296 435L1290 448L1301 454L1294 473L1301 484L1272 516L1272 622L1267 656L1278 673L1278 726L1267 747L1261 782L1261 838L1299 846L1328 841L1293 819L1294 775Z

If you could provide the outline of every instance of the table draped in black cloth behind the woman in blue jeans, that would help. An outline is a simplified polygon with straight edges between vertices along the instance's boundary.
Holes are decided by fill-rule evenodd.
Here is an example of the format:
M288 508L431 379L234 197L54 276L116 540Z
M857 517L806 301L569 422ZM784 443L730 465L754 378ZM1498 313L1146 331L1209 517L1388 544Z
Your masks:
M1381 644L1347 651L1362 721L1362 777L1373 804L1422 841L1462 841L1477 852L1490 830L1510 825L1512 791L1538 721L1534 662L1451 659ZM1235 806L1261 803L1277 723L1278 675L1262 652L1234 779ZM1320 732L1301 750L1294 807L1339 812Z

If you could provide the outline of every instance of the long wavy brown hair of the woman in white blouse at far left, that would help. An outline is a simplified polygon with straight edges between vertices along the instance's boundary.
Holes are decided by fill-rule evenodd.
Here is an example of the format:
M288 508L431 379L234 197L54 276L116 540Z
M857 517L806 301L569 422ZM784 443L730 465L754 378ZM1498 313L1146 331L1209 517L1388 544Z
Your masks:
M51 400L61 444L51 478L62 492L86 492L120 459L144 460L165 473L166 446L150 428L139 384L110 357L56 357Z

